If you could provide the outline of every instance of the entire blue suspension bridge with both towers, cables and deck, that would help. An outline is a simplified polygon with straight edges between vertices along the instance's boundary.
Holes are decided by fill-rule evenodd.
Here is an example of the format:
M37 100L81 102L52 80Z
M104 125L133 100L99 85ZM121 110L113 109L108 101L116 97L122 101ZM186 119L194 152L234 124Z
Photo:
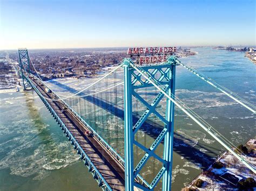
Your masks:
M176 67L184 66L254 114L255 106L172 53L169 57L163 54L162 59L158 54L159 60L150 52L131 53L131 58L85 87L78 87L82 88L79 91L58 84L66 88L65 95L43 82L27 49L19 49L18 54L24 89L36 91L104 190L171 190L174 107L256 172L244 153L175 95ZM151 139L146 140L145 135ZM153 174L143 176L151 166Z

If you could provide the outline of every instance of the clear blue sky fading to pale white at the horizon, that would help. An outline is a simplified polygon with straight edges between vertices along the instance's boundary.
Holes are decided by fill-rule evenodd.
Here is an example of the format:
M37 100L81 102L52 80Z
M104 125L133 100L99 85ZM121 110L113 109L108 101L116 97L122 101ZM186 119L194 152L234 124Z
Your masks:
M255 45L255 1L0 0L0 49Z

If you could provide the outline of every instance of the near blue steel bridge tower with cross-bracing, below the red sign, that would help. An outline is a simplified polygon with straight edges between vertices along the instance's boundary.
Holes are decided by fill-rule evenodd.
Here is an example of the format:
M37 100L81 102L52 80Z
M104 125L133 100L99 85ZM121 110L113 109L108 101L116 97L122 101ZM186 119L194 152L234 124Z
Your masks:
M149 75L150 79L164 87L164 91L174 99L175 93L175 73L176 57L171 56L166 62L159 63L158 65L151 66L138 66L131 59L124 60L124 143L125 143L125 190L133 190L134 186L143 190L153 190L157 183L162 180L164 191L171 190L171 178L172 178L172 153L173 153L173 123L174 123L174 103L167 98L165 116L161 115L156 107L163 99L163 93L160 93L153 99L152 102L145 100L136 91L142 88L153 87L153 85L146 80L136 69L132 66L136 66L144 74ZM133 121L133 101L136 98L142 103L146 110L144 114L140 116L137 122ZM164 123L164 128L159 133L158 137L154 139L154 142L150 147L146 147L134 139L134 135L142 127L146 119L151 115L155 115ZM163 157L157 155L157 147L161 142L164 142ZM133 148L134 146L142 149L145 154L138 164L134 164ZM146 165L147 161L153 157L161 162L160 171L154 177L152 182L144 182L141 185L136 181L136 176Z

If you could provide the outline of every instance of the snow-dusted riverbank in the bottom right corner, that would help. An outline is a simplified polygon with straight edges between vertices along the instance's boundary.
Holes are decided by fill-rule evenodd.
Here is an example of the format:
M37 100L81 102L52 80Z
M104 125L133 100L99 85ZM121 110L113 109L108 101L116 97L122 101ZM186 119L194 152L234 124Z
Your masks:
M245 145L247 161L256 165L256 139L250 139ZM238 190L242 182L255 176L230 152L224 152L204 172L197 176L183 190ZM255 188L255 187L254 187Z

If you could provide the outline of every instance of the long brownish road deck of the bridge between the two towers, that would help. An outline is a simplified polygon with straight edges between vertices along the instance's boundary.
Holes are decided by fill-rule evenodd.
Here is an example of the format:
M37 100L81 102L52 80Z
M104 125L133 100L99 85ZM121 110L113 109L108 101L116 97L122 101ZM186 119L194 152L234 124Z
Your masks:
M47 93L45 87L39 85L38 80L31 79L31 81L43 96L52 98L53 95ZM109 183L109 186L113 190L124 190L124 168L104 149L97 139L85 136L86 127L78 121L71 111L67 109L62 112L64 105L61 101L48 100L48 103L75 137L106 182Z

